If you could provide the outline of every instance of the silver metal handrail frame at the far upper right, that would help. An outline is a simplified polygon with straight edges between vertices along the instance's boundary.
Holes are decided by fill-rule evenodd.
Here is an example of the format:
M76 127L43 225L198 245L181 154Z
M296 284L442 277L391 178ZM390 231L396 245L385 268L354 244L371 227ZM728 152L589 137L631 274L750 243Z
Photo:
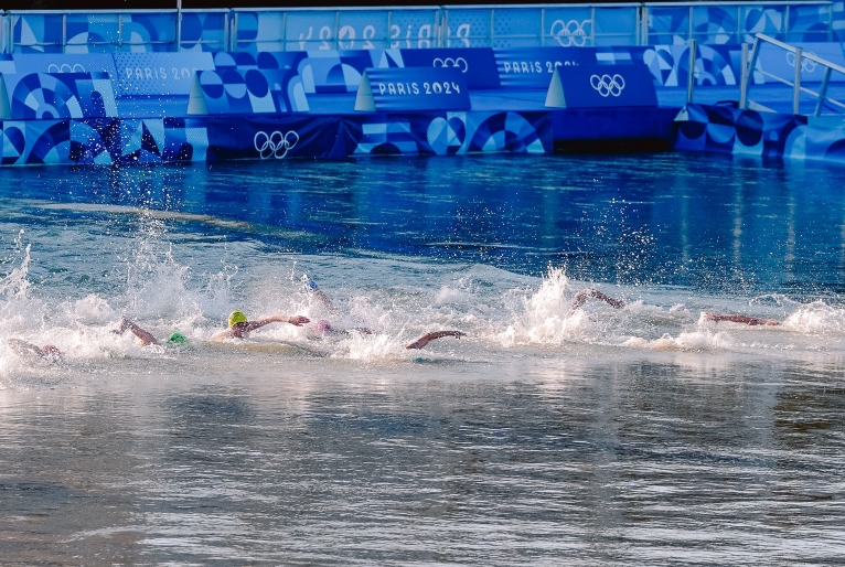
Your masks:
M757 60L760 56L760 47L763 42L774 45L776 47L779 47L794 55L795 74L792 77L792 81L774 75L773 73L769 73L761 68L757 68ZM749 100L748 98L748 89L751 84L751 78L753 73L760 73L764 77L769 77L773 81L777 81L779 83L782 83L784 85L789 85L792 87L792 114L793 115L800 114L799 110L800 110L802 93L816 97L816 104L815 104L815 109L813 111L813 116L821 116L822 107L825 105L825 103L845 110L845 104L842 104L838 100L827 97L827 86L830 85L831 73L836 72L836 73L845 74L845 67L837 65L836 63L830 62L827 60L824 60L812 53L805 53L801 47L794 47L792 45L778 41L774 38L769 38L768 35L764 35L762 33L758 33L755 35L753 50L751 52L750 61L748 60L748 45L742 44L742 47L744 47L742 49L742 77L741 77L741 84L740 84L740 90L739 90L739 107L740 108L749 108L749 106L755 106L755 103L752 100ZM804 60L812 61L824 67L824 74L822 75L822 82L819 87L819 92L801 86L801 73L803 68L802 61Z

